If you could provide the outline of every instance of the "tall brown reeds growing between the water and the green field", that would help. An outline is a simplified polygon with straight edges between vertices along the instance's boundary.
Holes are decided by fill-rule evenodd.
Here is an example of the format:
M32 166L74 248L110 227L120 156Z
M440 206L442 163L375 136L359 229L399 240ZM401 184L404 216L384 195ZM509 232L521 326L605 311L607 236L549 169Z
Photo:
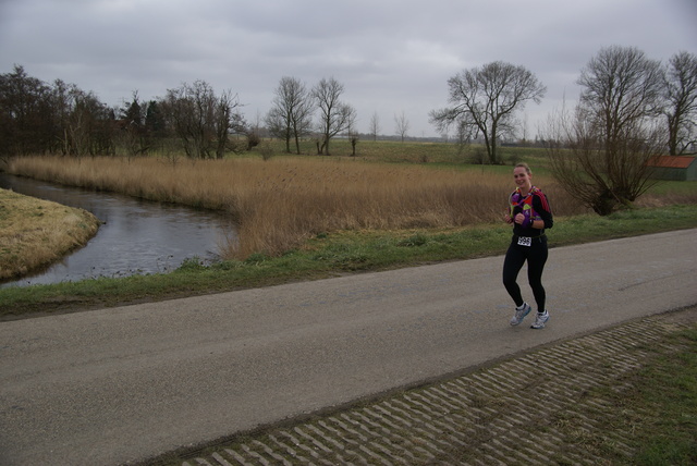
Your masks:
M14 174L228 211L237 225L223 257L279 255L322 232L456 228L499 220L512 175L339 158L278 157L171 163L163 159L14 160ZM512 171L511 171L512 173ZM536 177L557 214L585 209Z

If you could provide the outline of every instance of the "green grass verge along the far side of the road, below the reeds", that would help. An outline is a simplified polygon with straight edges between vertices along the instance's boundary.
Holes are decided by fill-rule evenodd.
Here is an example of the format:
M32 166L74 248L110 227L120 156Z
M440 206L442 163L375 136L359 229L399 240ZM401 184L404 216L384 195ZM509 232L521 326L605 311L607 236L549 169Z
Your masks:
M632 209L604 218L595 214L557 218L549 238L553 248L690 228L697 228L697 205ZM1 289L0 319L501 255L510 237L510 228L503 224L320 234L280 257L253 254L243 261L208 267L193 259L167 274Z

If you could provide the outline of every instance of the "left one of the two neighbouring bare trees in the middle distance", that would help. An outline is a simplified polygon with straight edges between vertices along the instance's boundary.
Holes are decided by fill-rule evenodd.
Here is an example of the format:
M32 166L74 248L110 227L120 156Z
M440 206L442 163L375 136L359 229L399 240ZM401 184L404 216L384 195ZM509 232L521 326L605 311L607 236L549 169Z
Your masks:
M291 151L291 139L301 154L301 138L309 134L315 102L306 86L294 77L284 76L276 88L273 106L266 116L271 134L285 140L285 151Z

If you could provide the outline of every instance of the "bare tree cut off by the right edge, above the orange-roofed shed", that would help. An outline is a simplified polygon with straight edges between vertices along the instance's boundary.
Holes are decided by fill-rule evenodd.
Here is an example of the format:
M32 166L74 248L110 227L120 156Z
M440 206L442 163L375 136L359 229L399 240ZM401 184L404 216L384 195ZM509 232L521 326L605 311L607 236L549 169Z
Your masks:
M669 154L694 154L697 150L697 56L682 51L671 57L663 89Z

